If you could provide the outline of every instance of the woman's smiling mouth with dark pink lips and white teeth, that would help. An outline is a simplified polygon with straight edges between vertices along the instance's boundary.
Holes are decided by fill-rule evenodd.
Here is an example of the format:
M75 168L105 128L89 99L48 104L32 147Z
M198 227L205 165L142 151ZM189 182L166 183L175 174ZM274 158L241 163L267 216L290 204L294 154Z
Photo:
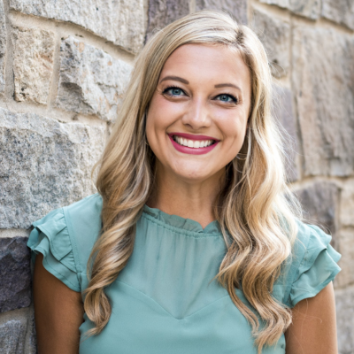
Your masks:
M176 150L192 155L206 154L219 143L219 140L205 135L170 133L168 136Z

